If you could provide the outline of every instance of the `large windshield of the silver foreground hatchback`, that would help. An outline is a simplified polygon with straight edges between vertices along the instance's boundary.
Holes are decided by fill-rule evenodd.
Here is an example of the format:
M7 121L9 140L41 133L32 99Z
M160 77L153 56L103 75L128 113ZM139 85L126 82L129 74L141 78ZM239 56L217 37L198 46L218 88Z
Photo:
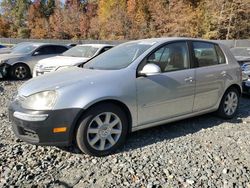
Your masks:
M117 70L129 66L155 43L128 42L108 50L84 65L84 68Z

